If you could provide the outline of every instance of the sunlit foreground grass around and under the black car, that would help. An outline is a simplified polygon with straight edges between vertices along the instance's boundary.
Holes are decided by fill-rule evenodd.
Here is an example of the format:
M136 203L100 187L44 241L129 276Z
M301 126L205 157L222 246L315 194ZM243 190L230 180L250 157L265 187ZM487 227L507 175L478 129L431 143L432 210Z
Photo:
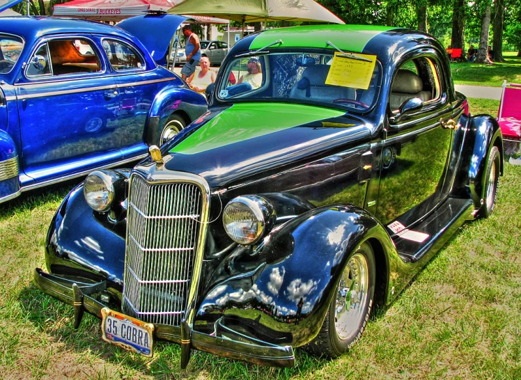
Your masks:
M102 342L91 315L74 330L72 307L31 279L72 185L0 207L0 379L521 379L521 166L505 164L492 217L462 226L348 354L297 349L285 370L201 352L181 370L177 345L147 359Z

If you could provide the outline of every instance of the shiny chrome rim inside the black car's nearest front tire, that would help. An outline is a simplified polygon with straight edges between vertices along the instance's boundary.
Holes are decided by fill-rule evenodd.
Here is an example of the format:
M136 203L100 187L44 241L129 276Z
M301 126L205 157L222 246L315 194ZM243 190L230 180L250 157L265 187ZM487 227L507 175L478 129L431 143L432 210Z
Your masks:
M365 317L368 289L367 260L356 253L345 266L336 293L334 323L340 339L346 340L359 331L361 319Z

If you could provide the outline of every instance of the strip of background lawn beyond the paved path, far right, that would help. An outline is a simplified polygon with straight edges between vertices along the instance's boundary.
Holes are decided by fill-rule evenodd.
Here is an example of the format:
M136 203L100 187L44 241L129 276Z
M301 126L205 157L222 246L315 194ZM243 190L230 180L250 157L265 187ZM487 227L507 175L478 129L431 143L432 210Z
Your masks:
M521 83L521 57L517 52L506 52L503 58L506 62L493 65L451 63L454 84L501 87L505 79L507 83Z

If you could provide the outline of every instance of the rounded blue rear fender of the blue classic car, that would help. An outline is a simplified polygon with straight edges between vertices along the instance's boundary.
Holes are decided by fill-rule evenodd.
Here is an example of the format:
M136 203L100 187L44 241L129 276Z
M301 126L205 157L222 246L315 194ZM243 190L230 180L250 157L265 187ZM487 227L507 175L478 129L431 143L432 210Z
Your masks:
M199 118L208 109L203 95L183 87L166 87L158 93L146 119L145 141L149 145L159 140L164 125L172 115L185 120L185 125Z

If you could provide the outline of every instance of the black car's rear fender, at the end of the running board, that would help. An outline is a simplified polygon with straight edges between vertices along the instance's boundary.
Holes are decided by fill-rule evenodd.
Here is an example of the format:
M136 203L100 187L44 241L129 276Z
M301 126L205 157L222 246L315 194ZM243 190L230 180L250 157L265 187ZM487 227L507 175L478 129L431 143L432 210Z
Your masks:
M469 159L463 160L460 164L456 189L467 188L477 209L481 207L485 197L485 171L492 146L497 146L499 149L500 173L503 175L503 138L497 120L488 115L470 117L467 120L466 132L462 156L469 157ZM472 154L469 154L469 151L472 151Z

